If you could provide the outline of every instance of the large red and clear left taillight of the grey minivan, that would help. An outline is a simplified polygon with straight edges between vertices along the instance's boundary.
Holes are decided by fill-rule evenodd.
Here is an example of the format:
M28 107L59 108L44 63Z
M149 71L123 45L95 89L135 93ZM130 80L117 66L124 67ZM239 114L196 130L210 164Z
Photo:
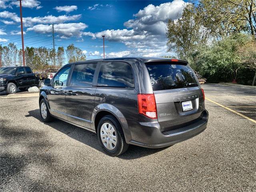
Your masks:
M151 119L157 118L156 100L154 94L138 94L139 114L143 114Z

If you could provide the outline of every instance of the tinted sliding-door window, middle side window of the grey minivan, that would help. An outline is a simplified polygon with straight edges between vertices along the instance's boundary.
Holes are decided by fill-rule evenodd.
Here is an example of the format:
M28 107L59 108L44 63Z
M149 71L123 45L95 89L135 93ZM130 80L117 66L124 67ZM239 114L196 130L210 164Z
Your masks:
M97 64L80 64L76 65L70 82L74 87L90 87Z

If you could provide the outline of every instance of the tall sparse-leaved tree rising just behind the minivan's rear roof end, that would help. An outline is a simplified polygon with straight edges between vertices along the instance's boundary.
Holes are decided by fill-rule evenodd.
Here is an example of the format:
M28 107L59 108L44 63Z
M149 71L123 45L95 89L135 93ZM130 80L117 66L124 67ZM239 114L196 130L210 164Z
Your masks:
M189 60L190 55L198 44L206 44L210 32L202 26L198 8L188 4L178 20L169 20L166 36L168 38L167 51L176 51L178 58Z

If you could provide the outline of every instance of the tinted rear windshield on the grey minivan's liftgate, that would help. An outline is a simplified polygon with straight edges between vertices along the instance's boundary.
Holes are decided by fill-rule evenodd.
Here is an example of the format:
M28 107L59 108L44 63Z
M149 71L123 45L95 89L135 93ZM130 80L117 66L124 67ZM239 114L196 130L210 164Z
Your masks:
M146 64L153 91L198 86L191 68L185 65Z

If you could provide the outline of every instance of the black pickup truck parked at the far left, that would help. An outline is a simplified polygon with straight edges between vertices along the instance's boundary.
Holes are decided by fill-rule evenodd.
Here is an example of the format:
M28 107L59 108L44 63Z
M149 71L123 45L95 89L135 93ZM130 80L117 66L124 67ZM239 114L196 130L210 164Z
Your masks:
M39 79L30 67L3 67L0 69L0 92L16 93L17 88L26 90L38 86Z

